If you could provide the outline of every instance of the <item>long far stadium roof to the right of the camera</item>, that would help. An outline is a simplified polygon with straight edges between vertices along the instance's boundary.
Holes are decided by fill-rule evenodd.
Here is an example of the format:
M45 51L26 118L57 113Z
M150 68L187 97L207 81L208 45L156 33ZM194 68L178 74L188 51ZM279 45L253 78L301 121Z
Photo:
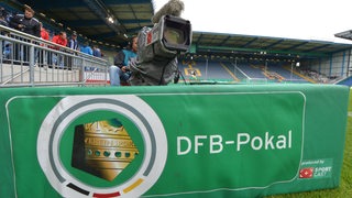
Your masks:
M194 32L197 53L319 58L352 48L351 44L256 35Z

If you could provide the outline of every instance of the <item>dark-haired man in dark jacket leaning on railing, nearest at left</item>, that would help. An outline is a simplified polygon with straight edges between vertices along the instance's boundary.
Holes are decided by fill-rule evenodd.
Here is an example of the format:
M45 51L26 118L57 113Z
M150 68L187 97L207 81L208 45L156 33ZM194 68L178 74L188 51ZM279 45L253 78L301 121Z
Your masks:
M40 21L34 18L34 10L29 7L24 6L24 14L16 14L11 18L10 20L10 28L13 28L18 31L34 35L36 37L41 37L41 25ZM19 46L16 44L15 52L19 53L15 55L16 59L22 58L24 62L29 62L29 50L28 46ZM23 48L23 50L22 50Z

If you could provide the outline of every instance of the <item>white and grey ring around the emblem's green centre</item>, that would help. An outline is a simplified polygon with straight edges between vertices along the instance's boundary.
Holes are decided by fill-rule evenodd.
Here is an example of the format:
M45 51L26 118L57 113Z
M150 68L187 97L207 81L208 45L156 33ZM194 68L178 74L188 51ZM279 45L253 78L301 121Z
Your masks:
M144 155L136 173L121 184L94 186L70 174L61 158L61 141L68 125L92 111L122 114L143 138ZM167 158L164 127L154 110L134 95L68 96L44 119L37 138L37 158L53 188L63 197L139 197L161 176Z

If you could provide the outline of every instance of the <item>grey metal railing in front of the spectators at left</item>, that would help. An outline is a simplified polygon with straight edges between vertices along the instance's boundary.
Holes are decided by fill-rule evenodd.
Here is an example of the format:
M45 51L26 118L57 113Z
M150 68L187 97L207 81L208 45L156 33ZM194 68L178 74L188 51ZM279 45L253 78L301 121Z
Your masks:
M109 63L0 25L0 88L106 86Z

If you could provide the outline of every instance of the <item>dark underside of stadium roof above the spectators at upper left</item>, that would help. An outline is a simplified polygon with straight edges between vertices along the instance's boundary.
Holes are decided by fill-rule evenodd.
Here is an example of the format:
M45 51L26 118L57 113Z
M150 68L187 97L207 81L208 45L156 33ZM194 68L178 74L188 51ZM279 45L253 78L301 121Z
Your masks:
M108 45L122 45L143 26L152 26L151 0L18 0L64 29ZM42 14L41 14L42 13ZM43 15L44 14L44 15ZM109 19L110 18L110 19Z

